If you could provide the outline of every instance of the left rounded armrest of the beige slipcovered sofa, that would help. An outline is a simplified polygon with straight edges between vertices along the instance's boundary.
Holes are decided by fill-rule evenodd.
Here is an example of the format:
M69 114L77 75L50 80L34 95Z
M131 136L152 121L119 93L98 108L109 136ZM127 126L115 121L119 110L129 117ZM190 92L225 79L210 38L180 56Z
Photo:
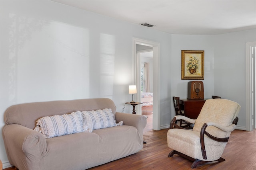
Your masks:
M42 157L47 155L45 137L33 129L18 124L10 124L4 126L2 135L11 164L24 163L25 159L25 162L28 161L28 164L31 163L29 162L30 160L37 160L39 162ZM32 164L34 163L32 162Z

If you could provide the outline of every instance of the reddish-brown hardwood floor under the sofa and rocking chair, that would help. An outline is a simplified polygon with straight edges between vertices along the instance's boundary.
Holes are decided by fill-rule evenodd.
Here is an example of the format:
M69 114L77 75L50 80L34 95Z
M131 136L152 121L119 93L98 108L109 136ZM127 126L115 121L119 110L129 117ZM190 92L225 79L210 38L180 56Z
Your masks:
M172 150L167 147L167 131L152 130L151 121L144 129L144 144L142 150L125 158L90 168L89 170L191 170L192 162L174 155L168 158ZM151 128L151 129L150 129ZM196 170L256 170L256 132L234 130L222 154L224 162L198 166ZM5 170L13 170L7 168Z

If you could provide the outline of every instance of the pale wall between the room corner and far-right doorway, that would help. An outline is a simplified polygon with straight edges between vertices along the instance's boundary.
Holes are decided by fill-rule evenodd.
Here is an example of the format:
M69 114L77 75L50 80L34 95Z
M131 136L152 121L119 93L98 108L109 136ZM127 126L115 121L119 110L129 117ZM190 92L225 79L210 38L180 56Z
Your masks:
M256 41L256 29L214 36L214 92L238 102L238 127L246 130L246 42Z

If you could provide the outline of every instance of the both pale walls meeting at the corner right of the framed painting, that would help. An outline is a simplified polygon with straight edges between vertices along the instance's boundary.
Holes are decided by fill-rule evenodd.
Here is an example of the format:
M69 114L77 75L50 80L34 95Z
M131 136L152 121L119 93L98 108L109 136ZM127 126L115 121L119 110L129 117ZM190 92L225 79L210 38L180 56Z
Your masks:
M172 96L187 98L187 84L192 81L181 80L180 51L204 50L204 98L215 95L238 102L242 108L237 128L246 130L246 42L252 41L256 29L214 36L172 35ZM172 106L172 116L173 110Z

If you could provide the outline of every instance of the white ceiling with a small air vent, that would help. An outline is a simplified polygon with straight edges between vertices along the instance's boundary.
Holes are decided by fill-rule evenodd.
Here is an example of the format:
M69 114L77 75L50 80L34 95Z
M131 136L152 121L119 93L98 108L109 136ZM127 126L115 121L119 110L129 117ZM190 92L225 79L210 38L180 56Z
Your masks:
M170 34L218 35L256 28L256 0L52 0ZM145 27L140 25L141 27Z

